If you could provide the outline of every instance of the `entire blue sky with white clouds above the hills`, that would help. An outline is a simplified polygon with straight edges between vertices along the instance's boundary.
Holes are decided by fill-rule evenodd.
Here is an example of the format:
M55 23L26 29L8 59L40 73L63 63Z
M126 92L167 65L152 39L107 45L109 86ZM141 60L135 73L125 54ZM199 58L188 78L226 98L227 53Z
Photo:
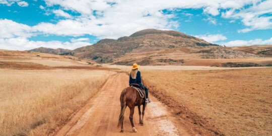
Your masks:
M75 49L148 28L227 46L272 44L272 0L0 0L1 49Z

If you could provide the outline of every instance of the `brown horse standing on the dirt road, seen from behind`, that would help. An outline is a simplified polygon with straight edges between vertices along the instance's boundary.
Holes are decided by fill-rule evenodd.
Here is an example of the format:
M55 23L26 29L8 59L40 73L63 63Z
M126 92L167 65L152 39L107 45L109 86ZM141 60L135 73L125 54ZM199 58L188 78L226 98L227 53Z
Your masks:
M120 103L121 103L121 112L119 115L119 122L117 127L119 128L121 126L121 132L124 131L123 129L124 112L125 112L126 106L128 106L130 110L129 120L132 126L132 131L137 132L137 129L135 128L133 123L134 107L138 106L140 124L144 125L144 115L145 115L145 109L146 109L145 98L141 98L139 96L139 92L135 88L127 87L121 92ZM143 105L142 118L141 118L141 105Z

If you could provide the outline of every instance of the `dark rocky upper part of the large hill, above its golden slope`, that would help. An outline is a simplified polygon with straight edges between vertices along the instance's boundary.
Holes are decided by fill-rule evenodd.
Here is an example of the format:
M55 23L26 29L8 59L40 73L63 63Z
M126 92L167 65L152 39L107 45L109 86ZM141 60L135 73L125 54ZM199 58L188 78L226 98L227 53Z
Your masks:
M162 49L215 45L205 40L176 31L146 29L130 36L103 39L99 42L77 48L76 56L94 59L96 62L111 63L130 52L150 52Z

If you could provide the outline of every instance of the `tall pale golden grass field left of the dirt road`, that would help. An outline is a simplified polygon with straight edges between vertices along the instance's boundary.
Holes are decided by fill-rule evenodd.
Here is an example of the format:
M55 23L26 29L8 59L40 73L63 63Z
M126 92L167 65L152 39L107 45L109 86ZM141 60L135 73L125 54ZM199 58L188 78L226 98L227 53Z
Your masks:
M0 135L48 135L114 74L90 70L1 70Z

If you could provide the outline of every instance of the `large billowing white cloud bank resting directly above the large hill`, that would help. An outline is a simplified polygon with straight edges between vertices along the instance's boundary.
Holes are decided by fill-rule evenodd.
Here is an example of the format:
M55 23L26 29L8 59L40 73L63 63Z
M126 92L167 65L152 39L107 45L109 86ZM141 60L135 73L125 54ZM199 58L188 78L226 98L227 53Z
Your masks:
M33 29L44 34L62 36L89 34L99 38L118 38L147 28L171 29L176 27L176 22L169 22L168 18L169 16L161 12L155 12L152 16L146 17L143 17L142 13L131 15L131 12L124 12L120 15L108 12L103 18L82 17L74 20L61 20L56 24L40 23Z

